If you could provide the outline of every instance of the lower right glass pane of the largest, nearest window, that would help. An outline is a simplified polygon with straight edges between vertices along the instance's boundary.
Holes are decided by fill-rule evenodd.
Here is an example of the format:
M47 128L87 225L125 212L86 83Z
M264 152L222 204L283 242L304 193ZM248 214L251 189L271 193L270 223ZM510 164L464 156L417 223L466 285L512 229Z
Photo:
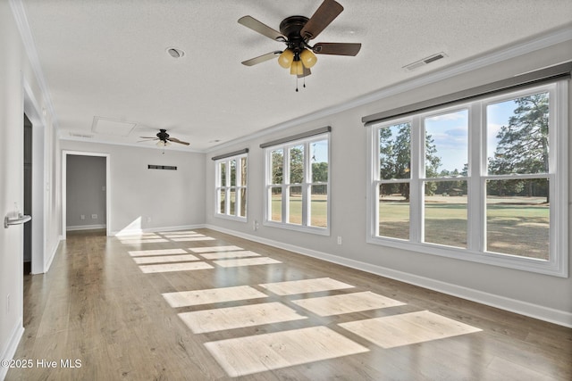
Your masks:
M548 260L548 179L489 180L486 193L486 250Z

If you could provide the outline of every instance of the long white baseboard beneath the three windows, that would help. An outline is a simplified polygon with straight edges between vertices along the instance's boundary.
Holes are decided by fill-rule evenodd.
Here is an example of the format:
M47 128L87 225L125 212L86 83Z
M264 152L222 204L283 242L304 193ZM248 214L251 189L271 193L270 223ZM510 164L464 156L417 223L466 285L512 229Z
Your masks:
M284 244L282 242L262 238L260 236L251 236L245 233L226 228L220 228L214 225L206 225L206 228L210 228L231 236L238 236L240 238L258 242L260 244L267 244L269 246L288 250L290 252L299 253L316 259L340 264L351 269L359 269L375 275L379 275L380 277L389 277L391 279L399 280L400 282L424 287L443 294L457 296L458 298L467 299L472 302L479 302L481 304L489 305L504 311L515 312L530 318L548 321L553 324L558 324L559 326L572 327L572 313L568 311L554 310L529 302L522 302L500 295L484 293L472 288L457 286L428 277L419 277L406 272L388 269L362 261L350 260L348 258L343 258L324 252L318 252L315 250L307 249L305 247L296 246L294 244Z

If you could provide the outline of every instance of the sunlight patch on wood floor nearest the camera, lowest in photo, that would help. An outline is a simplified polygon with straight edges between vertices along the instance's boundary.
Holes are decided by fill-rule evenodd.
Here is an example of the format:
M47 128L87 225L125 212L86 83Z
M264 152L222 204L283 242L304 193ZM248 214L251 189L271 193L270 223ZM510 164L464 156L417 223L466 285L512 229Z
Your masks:
M205 346L230 377L369 351L328 327L231 338Z

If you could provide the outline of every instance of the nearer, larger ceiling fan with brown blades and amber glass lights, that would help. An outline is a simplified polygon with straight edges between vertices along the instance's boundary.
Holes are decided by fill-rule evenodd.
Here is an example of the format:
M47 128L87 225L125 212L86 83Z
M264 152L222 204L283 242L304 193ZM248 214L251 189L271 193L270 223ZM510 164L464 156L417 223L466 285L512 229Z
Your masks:
M291 75L304 78L311 74L310 68L317 61L315 54L356 55L361 48L361 44L358 43L319 42L314 46L309 45L309 41L317 37L342 11L341 4L334 0L324 0L309 19L305 16L290 16L282 20L280 32L252 16L241 17L240 24L287 46L283 51L263 54L243 61L242 64L252 66L278 57L278 63L282 68L290 68Z

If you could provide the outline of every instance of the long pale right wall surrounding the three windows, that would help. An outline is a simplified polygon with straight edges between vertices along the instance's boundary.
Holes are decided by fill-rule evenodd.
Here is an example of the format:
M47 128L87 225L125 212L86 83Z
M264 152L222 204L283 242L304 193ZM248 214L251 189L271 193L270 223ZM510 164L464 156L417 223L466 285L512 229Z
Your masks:
M276 244L300 253L341 262L572 327L570 278L551 277L366 244L367 157L366 128L361 122L363 116L571 60L572 41L559 42L553 46L543 47L540 51L506 61L499 62L501 58L494 57L491 60L496 59L497 62L486 67L462 74L457 74L462 70L451 69L450 72L455 75L450 78L433 76L439 80L433 80L431 84L427 84L429 76L412 79L410 83L417 84L415 88L408 89L401 84L400 89L387 89L384 93L387 96L383 95L368 104L357 105L328 116L318 116L314 120L306 117L307 121L289 122L283 125L285 127L269 128L269 131L273 132L266 136L246 139L240 144L226 145L223 149L209 153L206 160L207 225L238 236ZM309 87L305 91L316 91L316 96L319 96L318 88ZM570 109L572 110L572 107ZM572 126L572 121L568 125ZM257 231L254 231L253 220L264 219L264 157L259 145L324 126L332 126L331 236L315 236L265 227L262 224ZM572 134L569 136L572 137ZM214 217L214 163L210 157L245 147L249 148L248 223L216 218ZM569 157L572 158L572 155ZM572 216L572 213L569 215ZM568 223L568 226L572 224ZM342 236L343 244L337 244L337 236Z

